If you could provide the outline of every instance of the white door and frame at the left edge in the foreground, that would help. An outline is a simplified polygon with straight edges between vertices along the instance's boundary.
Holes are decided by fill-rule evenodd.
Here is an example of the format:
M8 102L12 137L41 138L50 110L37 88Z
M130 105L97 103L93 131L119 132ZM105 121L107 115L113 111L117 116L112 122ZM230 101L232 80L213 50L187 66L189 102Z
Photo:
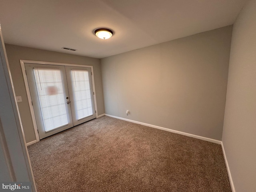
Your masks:
M36 192L1 26L0 86L0 178L6 182L30 181L32 192Z

